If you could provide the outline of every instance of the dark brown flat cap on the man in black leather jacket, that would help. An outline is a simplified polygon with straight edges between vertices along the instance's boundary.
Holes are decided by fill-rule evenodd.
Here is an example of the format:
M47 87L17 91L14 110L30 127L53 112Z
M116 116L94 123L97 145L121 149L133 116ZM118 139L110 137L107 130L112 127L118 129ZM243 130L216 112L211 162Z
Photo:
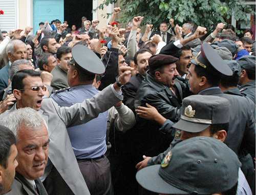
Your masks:
M175 63L178 60L179 58L171 55L158 54L153 55L148 59L148 66L150 67L150 70L156 70L164 65Z

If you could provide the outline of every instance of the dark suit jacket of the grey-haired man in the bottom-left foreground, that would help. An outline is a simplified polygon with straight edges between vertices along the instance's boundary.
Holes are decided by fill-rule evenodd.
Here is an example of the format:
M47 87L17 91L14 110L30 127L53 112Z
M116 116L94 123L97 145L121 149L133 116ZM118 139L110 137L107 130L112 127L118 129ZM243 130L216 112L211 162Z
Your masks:
M15 174L14 181L12 183L12 190L6 194L8 195L47 195L47 191L42 185L41 180L38 178L35 180L36 187L39 191L35 190L33 186L18 172Z

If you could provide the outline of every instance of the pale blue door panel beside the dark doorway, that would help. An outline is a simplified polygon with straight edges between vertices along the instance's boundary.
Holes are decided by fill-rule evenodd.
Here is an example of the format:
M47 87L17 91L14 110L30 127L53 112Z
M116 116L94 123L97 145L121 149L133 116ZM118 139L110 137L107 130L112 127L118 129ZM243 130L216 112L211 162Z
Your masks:
M39 28L39 23L54 19L59 19L61 23L64 21L64 0L34 0L34 34Z

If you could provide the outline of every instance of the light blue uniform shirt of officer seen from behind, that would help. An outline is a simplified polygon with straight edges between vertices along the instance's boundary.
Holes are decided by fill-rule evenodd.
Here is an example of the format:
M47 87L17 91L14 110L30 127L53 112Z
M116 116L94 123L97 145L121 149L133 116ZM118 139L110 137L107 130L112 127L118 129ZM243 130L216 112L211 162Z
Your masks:
M99 93L93 85L73 86L68 92L51 95L59 106L71 106ZM97 158L106 153L106 124L108 111L85 124L68 127L68 134L77 159Z

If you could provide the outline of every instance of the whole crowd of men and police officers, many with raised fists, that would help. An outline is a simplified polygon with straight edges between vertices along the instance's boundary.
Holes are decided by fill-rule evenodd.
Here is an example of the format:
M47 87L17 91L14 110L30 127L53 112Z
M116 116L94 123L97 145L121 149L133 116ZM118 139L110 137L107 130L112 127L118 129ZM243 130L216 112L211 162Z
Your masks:
M252 30L120 11L0 32L0 194L255 194Z

